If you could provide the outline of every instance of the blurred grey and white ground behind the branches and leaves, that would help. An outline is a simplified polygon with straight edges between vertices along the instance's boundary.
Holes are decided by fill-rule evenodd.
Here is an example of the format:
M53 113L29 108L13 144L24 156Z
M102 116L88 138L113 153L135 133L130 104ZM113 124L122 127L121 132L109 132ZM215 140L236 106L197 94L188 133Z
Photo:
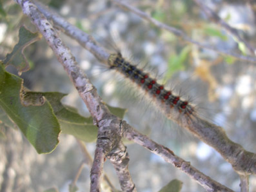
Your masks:
M127 1L161 21L183 30L195 41L216 46L219 50L249 54L244 44L212 23L193 1ZM166 88L175 88L199 109L199 113L224 128L228 137L246 150L256 153L255 63L239 61L227 55L186 43L137 15L121 10L111 1L43 1L50 8L84 32L95 37L109 52L117 46L139 68L159 79ZM255 42L255 12L249 1L204 1L216 14L251 46ZM0 59L12 51L18 41L19 26L35 27L14 1L1 1ZM221 155L200 140L166 120L155 110L152 101L133 83L108 70L94 55L61 33L77 62L110 106L127 109L124 117L134 128L176 155L190 161L195 168L234 191L240 191L239 176ZM66 72L42 38L25 50L31 70L22 73L25 86L33 91L68 93L63 103L74 106L81 115L90 116ZM14 67L9 72L17 74ZM1 117L0 117L1 120ZM0 139L0 191L44 191L55 187L68 191L82 160L77 140L60 135L60 143L50 154L38 155L17 128L0 124L5 137ZM94 156L95 142L85 143ZM181 191L205 191L194 180L143 147L127 143L129 170L137 191L159 191L170 180L183 182ZM104 171L113 186L120 189L115 170L108 160ZM77 181L78 191L89 191L90 168L84 166ZM250 191L256 189L256 177L250 176Z

